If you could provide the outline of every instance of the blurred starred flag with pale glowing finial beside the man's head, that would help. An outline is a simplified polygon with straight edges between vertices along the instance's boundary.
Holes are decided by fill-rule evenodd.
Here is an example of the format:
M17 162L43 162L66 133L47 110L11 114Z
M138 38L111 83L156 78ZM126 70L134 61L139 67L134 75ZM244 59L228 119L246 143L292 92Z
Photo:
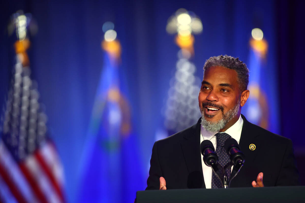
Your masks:
M189 61L194 55L194 36L203 30L201 20L194 12L178 9L167 20L166 31L177 33L176 44L180 47L176 72L170 80L170 89L164 110L164 125L168 130L178 132L193 125L200 117L198 93L201 80L194 74L195 65Z

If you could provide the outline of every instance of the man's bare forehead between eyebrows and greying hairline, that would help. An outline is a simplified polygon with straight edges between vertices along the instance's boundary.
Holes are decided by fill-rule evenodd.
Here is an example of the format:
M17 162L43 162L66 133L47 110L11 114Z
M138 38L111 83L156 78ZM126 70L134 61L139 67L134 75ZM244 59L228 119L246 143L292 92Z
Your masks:
M221 66L207 68L203 76L203 80L213 85L229 83L233 86L238 86L237 79L237 72L235 70Z

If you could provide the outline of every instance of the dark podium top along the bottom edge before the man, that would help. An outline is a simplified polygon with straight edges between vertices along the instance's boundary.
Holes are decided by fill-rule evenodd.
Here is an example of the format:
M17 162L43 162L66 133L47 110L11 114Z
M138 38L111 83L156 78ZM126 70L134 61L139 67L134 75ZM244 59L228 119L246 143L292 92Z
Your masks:
M150 202L305 202L305 186L137 191L137 203Z

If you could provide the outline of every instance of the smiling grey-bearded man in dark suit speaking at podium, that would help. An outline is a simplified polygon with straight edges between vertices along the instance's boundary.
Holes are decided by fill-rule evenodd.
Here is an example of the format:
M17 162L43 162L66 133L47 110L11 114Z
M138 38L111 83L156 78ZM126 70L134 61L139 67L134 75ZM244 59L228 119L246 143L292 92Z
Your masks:
M229 159L222 141L229 137L245 155L244 166L230 187L299 185L291 140L251 124L241 115L249 98L246 64L221 55L206 60L203 70L198 96L202 117L192 127L155 142L146 190L221 187L203 163L200 143L210 140L224 166ZM225 173L230 176L230 167Z

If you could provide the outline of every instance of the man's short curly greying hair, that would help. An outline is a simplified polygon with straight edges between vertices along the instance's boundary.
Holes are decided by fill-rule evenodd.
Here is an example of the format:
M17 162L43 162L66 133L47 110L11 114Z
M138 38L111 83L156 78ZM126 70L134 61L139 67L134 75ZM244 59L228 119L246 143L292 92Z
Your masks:
M244 62L239 60L239 58L234 58L228 55L210 57L204 63L203 75L204 72L212 66L221 66L235 70L237 73L239 90L242 92L247 89L249 83L249 69Z

